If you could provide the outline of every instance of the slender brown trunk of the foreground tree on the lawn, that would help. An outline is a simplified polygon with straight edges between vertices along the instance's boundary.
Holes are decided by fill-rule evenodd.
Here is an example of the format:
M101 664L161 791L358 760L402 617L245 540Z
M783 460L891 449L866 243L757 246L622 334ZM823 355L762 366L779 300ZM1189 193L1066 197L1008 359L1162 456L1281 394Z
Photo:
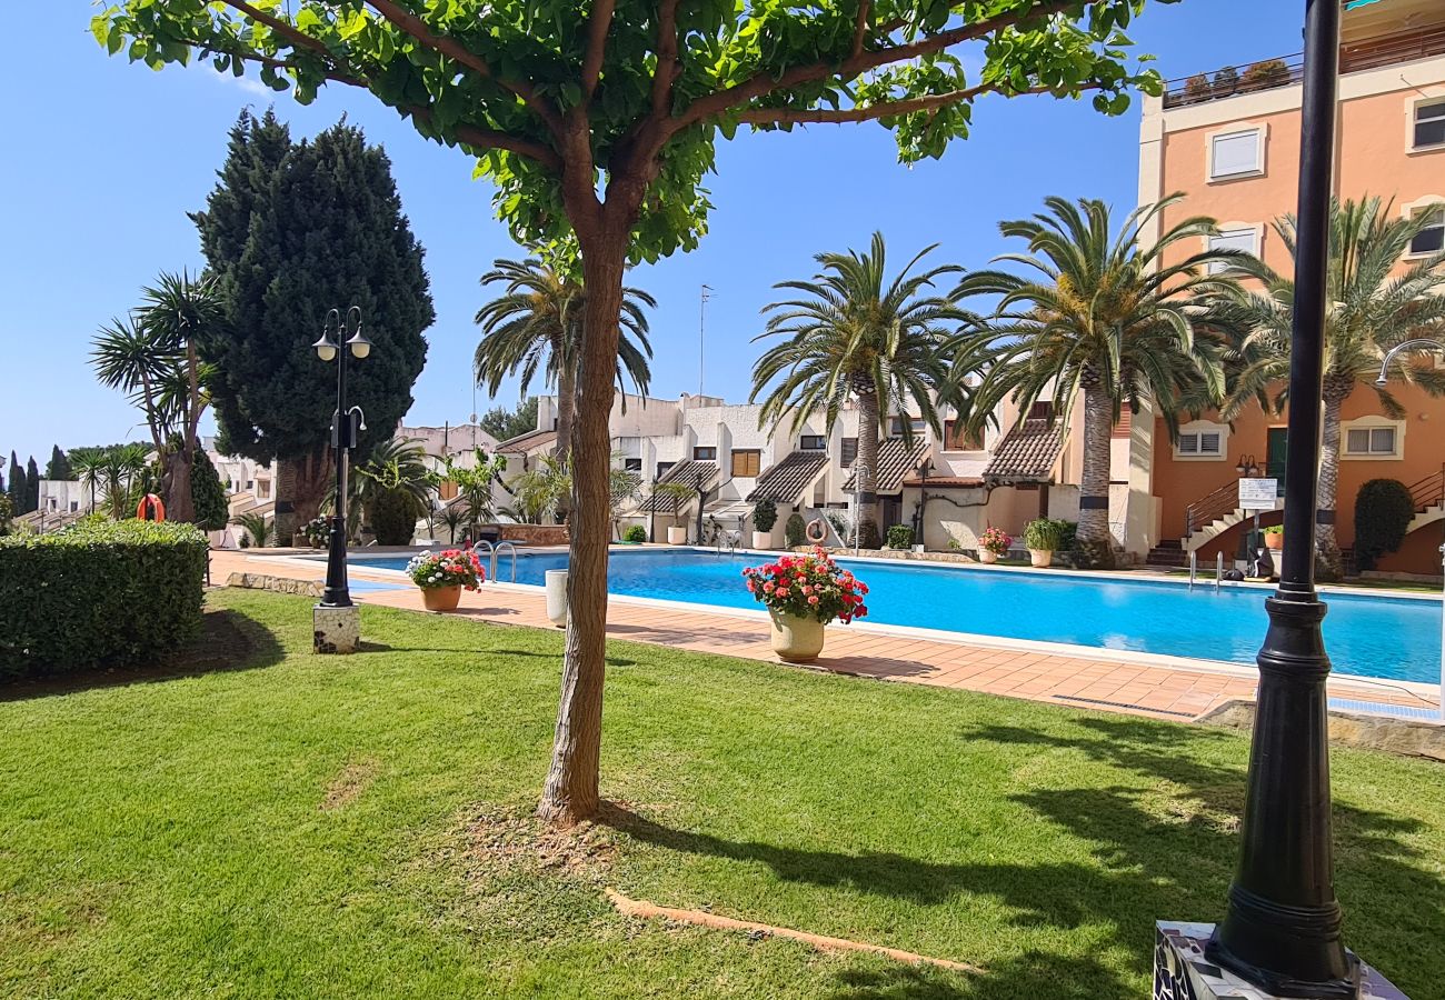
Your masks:
M618 314L630 224L608 218L579 227L587 289L579 353L578 416L572 426L572 512L566 578L566 652L552 767L538 815L571 825L597 814L607 645L607 542ZM591 227L587 227L591 228ZM561 400L559 400L561 402Z

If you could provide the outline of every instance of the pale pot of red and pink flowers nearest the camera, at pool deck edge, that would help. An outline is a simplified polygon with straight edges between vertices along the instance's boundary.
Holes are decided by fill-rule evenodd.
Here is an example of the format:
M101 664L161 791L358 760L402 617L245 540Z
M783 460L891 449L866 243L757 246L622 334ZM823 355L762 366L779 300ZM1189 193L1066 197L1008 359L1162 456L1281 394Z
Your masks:
M743 571L753 598L773 618L773 652L789 663L806 663L822 652L824 627L867 616L868 585L840 566L822 546L806 555Z

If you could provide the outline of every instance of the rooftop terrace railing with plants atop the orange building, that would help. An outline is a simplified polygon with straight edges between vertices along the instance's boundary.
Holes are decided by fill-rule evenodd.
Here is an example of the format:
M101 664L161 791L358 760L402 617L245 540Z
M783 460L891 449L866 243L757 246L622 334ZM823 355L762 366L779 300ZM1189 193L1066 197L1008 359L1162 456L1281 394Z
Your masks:
M1379 69L1445 55L1445 26L1383 35L1340 46L1340 72ZM1290 87L1300 81L1302 53L1224 66L1214 74L1181 77L1165 84L1165 108L1221 101L1237 94Z

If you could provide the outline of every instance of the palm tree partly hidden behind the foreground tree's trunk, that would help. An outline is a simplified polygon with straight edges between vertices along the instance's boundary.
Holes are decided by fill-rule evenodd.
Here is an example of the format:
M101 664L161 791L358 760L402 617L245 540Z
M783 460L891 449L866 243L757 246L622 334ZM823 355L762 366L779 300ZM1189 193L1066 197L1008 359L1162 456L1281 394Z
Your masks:
M556 389L553 451L565 455L571 449L577 408L585 292L581 283L535 257L494 262L493 270L481 276L481 285L501 285L503 293L477 311L481 327L481 342L473 361L477 384L486 383L487 392L496 396L503 379L520 373L520 392L526 396L532 379L542 371L545 383ZM626 373L637 393L646 396L652 379L647 367L652 345L647 342L643 306L653 309L657 302L640 289L623 289L617 386L626 392Z

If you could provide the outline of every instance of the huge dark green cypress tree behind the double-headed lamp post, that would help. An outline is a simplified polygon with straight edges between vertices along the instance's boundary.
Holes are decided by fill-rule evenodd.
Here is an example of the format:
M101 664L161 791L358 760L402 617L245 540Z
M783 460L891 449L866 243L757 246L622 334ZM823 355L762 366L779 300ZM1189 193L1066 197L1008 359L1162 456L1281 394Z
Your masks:
M286 504L309 519L329 481L337 370L311 348L327 311L360 306L376 344L348 370L350 402L370 428L358 461L410 409L435 312L390 160L360 129L342 121L292 143L270 111L243 113L218 176L192 215L228 316L202 351L217 368L211 402L221 451L288 467L277 470L286 538Z

